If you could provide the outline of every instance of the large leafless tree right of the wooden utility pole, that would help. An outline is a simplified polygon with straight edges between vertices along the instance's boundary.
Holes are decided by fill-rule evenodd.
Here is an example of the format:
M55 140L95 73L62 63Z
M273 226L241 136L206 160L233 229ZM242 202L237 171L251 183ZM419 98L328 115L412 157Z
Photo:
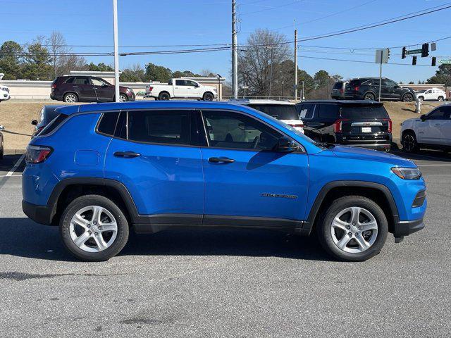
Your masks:
M291 58L285 35L270 30L256 30L238 53L238 82L249 87L249 94L267 96L271 84L281 82L280 64ZM272 67L271 67L272 63ZM271 69L272 68L272 69ZM293 68L293 73L294 73ZM272 79L271 79L272 73Z

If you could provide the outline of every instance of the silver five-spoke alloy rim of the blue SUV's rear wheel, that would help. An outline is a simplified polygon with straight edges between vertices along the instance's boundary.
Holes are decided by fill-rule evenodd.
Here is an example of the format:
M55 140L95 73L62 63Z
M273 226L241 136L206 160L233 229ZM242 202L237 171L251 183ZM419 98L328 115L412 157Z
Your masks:
M70 238L83 251L108 249L118 234L113 214L101 206L86 206L73 215L69 225Z

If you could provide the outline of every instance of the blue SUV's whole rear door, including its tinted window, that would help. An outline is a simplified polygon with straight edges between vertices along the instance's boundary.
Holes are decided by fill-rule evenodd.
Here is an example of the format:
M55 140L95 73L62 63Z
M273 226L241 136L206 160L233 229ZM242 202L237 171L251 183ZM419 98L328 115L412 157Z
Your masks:
M179 112L121 113L116 135L126 138L128 134L129 140L111 139L105 177L125 184L140 215L194 214L200 222L204 212L201 151L183 145L190 143L190 135L185 134L191 126L190 113L181 111L178 116ZM126 124L124 115L128 115ZM122 131L125 125L128 133ZM154 144L144 143L145 139Z

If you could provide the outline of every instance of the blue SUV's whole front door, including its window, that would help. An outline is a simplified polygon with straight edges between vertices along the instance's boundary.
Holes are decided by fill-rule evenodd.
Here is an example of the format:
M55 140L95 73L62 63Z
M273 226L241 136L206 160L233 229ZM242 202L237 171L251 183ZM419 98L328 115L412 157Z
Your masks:
M209 141L202 148L206 222L207 215L303 220L307 154L273 151L283 135L251 116L228 111L202 115Z

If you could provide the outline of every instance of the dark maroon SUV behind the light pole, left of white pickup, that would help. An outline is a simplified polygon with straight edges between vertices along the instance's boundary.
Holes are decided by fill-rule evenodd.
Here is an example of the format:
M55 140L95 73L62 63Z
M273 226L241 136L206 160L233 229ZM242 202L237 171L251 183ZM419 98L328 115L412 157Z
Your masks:
M133 89L119 87L121 102L135 101ZM51 82L52 100L64 102L111 102L114 101L114 86L100 77L58 76Z

